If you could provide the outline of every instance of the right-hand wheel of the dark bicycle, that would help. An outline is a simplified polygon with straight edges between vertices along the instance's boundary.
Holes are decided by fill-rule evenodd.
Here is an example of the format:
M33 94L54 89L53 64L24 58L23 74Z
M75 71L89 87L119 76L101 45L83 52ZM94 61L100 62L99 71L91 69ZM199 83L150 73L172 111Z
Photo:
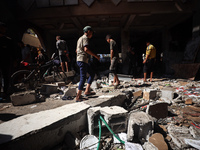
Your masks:
M65 82L67 84L67 75L58 66L53 66L53 78L55 82Z

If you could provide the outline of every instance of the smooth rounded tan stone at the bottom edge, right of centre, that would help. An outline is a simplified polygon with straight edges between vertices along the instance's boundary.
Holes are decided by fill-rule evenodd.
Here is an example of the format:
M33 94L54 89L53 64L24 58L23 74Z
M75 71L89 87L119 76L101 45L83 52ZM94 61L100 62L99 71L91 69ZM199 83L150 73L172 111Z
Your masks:
M154 146L156 146L159 150L168 150L167 143L162 134L155 133L149 138L149 142L151 142Z

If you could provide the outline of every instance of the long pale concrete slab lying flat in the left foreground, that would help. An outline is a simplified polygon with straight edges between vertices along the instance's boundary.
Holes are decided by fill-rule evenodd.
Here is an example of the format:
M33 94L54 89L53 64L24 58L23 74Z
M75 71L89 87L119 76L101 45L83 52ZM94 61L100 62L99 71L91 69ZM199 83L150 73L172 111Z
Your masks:
M16 146L18 149L48 149L61 142L67 131L86 128L89 107L84 103L73 103L2 123L0 149L15 149Z

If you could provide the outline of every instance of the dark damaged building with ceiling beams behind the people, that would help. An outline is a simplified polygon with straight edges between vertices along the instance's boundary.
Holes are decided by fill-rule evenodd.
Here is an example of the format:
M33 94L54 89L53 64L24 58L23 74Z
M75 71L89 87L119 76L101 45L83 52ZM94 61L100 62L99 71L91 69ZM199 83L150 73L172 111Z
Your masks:
M120 47L123 74L128 73L129 45L135 48L141 72L141 58L149 39L157 49L158 64L163 63L157 68L164 70L157 72L188 78L196 75L196 63L200 62L199 5L198 0L1 1L1 22L7 24L8 36L15 40L32 29L49 56L56 51L55 36L61 35L71 58L75 58L76 42L86 25L95 30L95 53L109 54L105 36L112 34Z

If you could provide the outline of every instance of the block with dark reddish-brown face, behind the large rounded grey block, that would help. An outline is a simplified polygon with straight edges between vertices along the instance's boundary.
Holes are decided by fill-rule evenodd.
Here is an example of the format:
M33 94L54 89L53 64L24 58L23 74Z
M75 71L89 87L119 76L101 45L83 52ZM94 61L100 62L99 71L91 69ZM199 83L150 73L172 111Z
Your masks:
M156 119L166 118L168 116L168 103L153 102L147 106L146 113Z

